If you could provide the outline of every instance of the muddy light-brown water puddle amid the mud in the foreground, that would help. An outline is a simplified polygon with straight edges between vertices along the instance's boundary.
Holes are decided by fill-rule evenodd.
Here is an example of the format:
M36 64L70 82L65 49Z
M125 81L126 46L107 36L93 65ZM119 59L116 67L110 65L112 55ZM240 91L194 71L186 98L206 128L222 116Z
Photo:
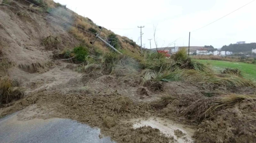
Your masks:
M193 142L193 139L191 138L191 136L193 136L195 130L184 127L184 125L182 124L176 124L171 120L152 117L147 120L143 120L142 118L137 118L137 119L132 119L130 121L124 121L124 122L132 122L133 128L135 129L143 126L151 126L152 128L157 128L166 136L168 137L173 136L173 138L176 139L178 143ZM182 131L184 135L181 137L177 137L175 135L175 130Z

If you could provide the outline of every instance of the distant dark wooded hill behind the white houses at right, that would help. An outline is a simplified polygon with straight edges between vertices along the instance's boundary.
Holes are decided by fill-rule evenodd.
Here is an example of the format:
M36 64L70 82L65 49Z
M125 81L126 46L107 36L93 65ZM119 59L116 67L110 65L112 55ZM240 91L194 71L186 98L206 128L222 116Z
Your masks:
M221 48L223 51L232 51L233 53L251 52L251 49L256 49L256 43L230 44Z

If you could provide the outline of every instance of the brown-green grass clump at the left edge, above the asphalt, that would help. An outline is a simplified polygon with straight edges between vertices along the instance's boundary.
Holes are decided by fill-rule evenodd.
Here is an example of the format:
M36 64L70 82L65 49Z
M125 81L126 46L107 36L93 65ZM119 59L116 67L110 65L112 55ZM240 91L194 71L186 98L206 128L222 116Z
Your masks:
M0 80L0 104L10 103L25 96L21 88L13 88L11 83L12 81L9 78Z

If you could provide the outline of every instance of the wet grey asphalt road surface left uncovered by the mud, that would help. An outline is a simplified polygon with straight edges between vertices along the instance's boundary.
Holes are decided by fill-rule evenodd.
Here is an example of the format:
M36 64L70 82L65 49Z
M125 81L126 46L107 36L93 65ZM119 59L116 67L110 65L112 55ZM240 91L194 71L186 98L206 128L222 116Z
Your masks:
M0 118L0 143L111 143L100 130L69 119L18 121L17 113Z

